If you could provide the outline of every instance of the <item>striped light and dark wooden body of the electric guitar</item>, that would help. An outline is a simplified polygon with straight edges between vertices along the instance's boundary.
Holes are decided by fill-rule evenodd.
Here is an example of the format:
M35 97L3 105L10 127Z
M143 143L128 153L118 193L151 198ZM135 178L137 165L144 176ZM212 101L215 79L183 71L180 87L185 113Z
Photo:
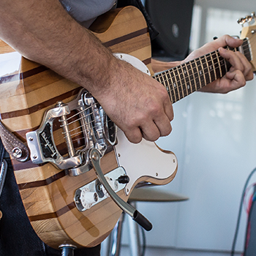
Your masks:
M135 56L151 71L150 39L139 10L134 7L113 10L99 17L90 29L113 53ZM47 67L24 59L3 41L0 41L0 65L1 121L23 142L26 142L26 132L39 128L46 110L53 108L56 102L70 102L80 91L77 84ZM53 137L59 151L65 151L64 139L57 124ZM83 138L78 138L77 143L81 146ZM151 152L150 157L147 157L147 150ZM163 157L154 157L155 151ZM141 166L133 156L136 161L141 160ZM143 161L148 161L149 166L144 165ZM171 152L162 152L154 143L145 141L132 145L121 135L117 146L108 147L101 159L101 167L103 173L109 173L123 163L129 165L124 166L128 176L140 169L129 191L122 189L118 192L125 201L138 182L167 184L177 170L176 157ZM67 170L59 170L50 163L35 165L31 160L18 162L12 159L12 164L31 225L39 238L49 246L58 248L64 243L78 247L96 246L108 236L118 221L121 209L110 197L86 211L78 211L75 206L75 190L97 179L93 168L80 176L69 176ZM148 167L153 172L148 173Z

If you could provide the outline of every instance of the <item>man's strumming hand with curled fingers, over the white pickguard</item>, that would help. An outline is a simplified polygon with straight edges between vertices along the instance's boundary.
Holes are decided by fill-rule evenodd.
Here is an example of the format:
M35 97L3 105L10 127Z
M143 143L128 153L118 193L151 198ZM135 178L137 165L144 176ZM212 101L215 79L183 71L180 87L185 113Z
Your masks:
M128 140L139 143L168 135L173 108L165 87L118 59L108 72L110 83L93 95Z

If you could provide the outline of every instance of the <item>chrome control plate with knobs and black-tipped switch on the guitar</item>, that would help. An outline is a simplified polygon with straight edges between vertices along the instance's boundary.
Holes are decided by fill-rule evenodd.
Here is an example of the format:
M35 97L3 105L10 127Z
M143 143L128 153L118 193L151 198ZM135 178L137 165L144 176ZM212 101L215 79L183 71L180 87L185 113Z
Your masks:
M115 192L124 189L126 186L126 184L118 184L118 178L121 176L126 176L126 172L123 167L117 167L115 170L105 174L105 179ZM107 197L109 197L109 195L105 187L102 186L99 179L96 179L77 189L75 191L74 201L79 211L86 211L86 209L100 203Z

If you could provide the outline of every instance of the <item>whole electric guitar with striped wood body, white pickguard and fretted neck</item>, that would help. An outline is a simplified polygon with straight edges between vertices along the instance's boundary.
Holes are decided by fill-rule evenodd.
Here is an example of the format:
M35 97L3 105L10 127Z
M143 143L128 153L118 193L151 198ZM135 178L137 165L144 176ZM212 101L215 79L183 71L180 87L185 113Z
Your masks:
M117 58L153 75L148 29L138 9L112 10L90 29ZM255 31L256 25L244 27L240 48L254 69ZM173 180L176 156L146 140L129 143L78 84L23 58L3 41L0 65L1 121L30 151L30 158L20 162L14 148L15 178L31 225L49 246L96 246L120 217L121 208L95 172L91 151L97 151L105 180L124 201L141 182ZM153 78L174 103L221 78L228 68L215 51Z

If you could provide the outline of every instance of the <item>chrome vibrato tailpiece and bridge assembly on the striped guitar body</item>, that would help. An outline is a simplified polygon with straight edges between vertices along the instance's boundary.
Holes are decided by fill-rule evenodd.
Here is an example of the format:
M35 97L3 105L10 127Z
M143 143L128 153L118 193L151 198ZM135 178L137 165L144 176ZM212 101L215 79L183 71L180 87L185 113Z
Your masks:
M72 112L75 114L70 116ZM53 122L56 120L61 124L67 146L65 156L60 154L54 140ZM79 125L74 128L72 125L75 122ZM75 149L72 138L78 134L82 135L85 143ZM26 140L34 164L51 162L61 170L68 169L70 176L78 176L91 169L91 148L97 149L100 157L103 157L108 145L113 146L116 143L116 125L96 99L88 91L81 89L76 99L67 104L58 102L55 108L46 111L39 129L27 132Z

